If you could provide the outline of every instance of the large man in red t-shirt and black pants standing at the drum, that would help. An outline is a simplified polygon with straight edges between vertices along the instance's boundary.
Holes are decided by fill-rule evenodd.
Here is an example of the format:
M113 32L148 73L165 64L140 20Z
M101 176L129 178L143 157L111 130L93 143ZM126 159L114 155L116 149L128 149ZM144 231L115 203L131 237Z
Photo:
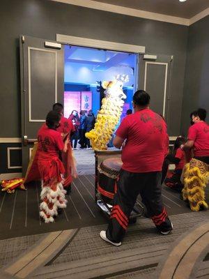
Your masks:
M162 204L161 171L167 152L167 125L159 114L148 108L150 96L139 90L133 96L134 114L127 115L114 138L114 146L122 150L123 165L114 195L109 226L100 237L120 246L129 223L130 213L140 193L149 216L158 231L169 234L173 225Z

